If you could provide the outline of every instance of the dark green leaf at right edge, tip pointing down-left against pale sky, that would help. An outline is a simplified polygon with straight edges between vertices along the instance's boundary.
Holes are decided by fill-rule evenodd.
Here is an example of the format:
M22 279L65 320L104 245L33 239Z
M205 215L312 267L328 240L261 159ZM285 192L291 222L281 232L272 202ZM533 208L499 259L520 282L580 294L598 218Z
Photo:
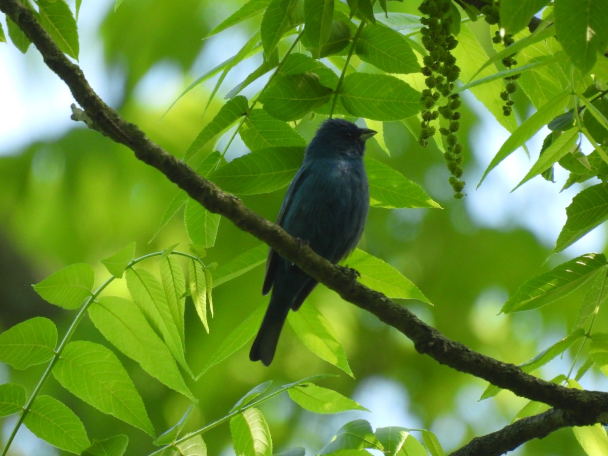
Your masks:
M608 220L608 184L584 188L566 208L567 220L553 252L561 252L593 228Z

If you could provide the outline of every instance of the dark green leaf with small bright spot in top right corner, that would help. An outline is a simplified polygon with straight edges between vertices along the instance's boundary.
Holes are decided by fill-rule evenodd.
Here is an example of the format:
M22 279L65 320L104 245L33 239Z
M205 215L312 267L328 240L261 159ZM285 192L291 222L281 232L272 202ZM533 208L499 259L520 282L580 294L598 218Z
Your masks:
M608 3L560 0L555 2L554 13L559 43L572 63L587 73L608 45Z

